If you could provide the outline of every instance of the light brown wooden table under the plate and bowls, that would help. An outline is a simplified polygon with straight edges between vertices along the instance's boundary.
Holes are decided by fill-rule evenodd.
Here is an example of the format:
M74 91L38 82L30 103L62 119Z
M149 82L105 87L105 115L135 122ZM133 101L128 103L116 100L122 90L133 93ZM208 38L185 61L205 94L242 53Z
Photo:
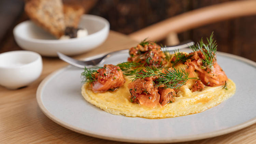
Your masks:
M20 49L14 43L13 37L8 38L12 49ZM126 35L110 31L108 39L96 49L75 56L85 58L99 53L127 49L136 46L138 42L131 40ZM4 51L8 51L4 45ZM1 53L1 51L0 51ZM55 70L68 64L58 58L43 57L43 72L39 79L25 88L8 90L0 86L0 143L46 143L46 144L78 144L78 143L118 143L86 136L66 129L54 123L40 110L35 93L40 82ZM204 140L184 142L192 144L215 143L256 143L256 124L242 130L209 138Z

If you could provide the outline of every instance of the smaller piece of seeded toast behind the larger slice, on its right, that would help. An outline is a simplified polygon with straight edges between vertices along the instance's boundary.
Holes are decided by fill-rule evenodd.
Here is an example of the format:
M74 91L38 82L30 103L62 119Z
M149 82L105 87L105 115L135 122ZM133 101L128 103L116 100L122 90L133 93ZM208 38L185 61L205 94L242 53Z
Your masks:
M80 5L63 4L64 22L66 27L77 28L84 8Z

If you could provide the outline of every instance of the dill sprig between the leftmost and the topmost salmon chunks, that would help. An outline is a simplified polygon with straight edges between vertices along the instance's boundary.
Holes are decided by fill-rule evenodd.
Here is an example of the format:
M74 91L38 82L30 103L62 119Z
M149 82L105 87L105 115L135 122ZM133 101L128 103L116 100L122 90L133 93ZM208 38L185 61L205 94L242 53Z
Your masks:
M127 61L119 63L116 66L123 71L124 75L133 75L143 66L143 63Z

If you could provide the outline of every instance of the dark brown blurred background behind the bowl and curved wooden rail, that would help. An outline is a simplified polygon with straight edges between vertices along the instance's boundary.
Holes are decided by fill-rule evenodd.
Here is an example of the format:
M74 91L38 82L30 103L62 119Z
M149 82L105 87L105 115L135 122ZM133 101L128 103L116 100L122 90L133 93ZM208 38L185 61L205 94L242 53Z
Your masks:
M188 11L228 1L232 0L63 0L64 3L82 5L87 14L106 18L111 30L123 34L130 34ZM20 48L13 39L12 30L18 23L29 19L24 13L24 1L1 0L0 10L0 53L18 50ZM256 61L256 16L208 24L178 33L177 36L181 42L197 42L201 37L209 37L212 31L218 51ZM158 43L167 44L165 39Z

